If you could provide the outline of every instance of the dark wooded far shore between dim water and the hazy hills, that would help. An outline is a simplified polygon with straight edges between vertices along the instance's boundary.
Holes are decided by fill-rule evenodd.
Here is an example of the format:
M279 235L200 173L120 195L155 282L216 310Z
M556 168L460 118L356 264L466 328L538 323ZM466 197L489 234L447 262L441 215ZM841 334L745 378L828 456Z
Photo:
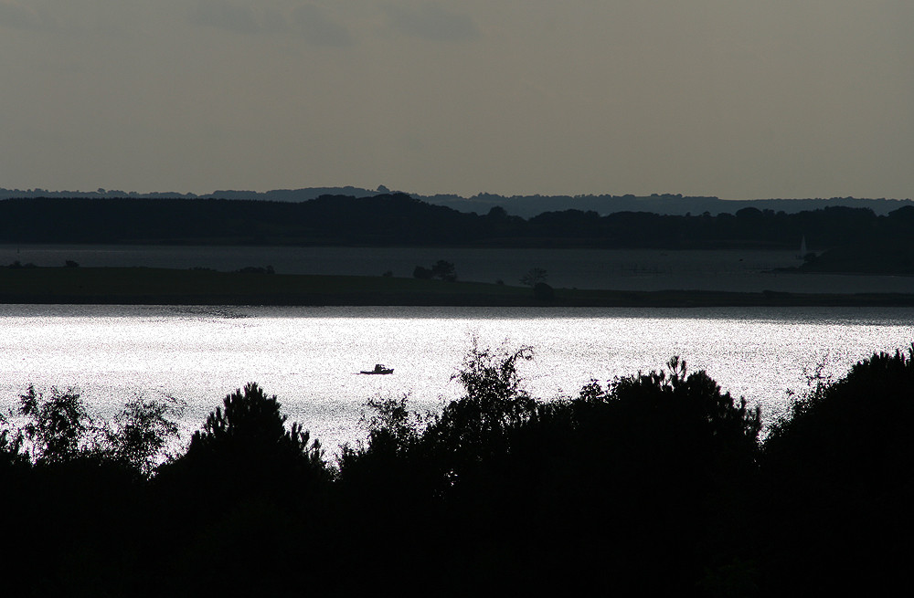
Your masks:
M914 206L876 215L827 207L735 215L566 210L528 219L430 205L405 194L324 195L300 202L220 199L27 198L0 201L0 243L295 246L604 247L790 249L805 238L836 254L809 269L914 272Z

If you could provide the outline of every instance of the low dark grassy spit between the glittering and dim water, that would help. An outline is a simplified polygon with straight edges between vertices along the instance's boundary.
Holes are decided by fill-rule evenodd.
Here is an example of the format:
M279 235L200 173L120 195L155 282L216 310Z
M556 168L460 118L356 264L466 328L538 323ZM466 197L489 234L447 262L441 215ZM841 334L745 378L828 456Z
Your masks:
M531 289L415 278L168 268L0 268L0 303L468 307L911 307L914 294Z

